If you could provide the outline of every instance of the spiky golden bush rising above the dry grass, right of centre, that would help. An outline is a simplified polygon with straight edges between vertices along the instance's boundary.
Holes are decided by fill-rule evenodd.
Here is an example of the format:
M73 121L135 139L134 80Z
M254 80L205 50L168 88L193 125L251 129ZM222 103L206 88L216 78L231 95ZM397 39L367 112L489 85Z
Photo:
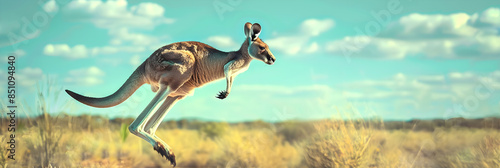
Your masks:
M318 133L305 144L308 167L368 167L372 133L352 121L324 121Z

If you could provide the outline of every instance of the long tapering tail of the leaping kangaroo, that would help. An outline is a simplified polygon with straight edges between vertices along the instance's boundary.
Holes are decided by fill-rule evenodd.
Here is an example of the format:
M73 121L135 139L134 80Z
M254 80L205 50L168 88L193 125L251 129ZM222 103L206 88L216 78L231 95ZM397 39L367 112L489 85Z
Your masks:
M144 71L145 62L137 67L134 73L130 75L127 81L125 81L125 83L120 87L120 89L106 97L87 97L70 90L66 90L66 93L68 93L71 97L78 100L79 102L92 107L105 108L116 106L127 100L127 98L129 98L139 87L146 83L144 79Z

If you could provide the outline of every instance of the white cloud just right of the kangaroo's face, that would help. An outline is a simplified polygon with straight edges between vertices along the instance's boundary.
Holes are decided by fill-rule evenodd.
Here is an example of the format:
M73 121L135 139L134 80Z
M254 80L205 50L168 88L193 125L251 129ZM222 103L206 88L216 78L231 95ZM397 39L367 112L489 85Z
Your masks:
M306 46L308 41L312 37L328 31L333 25L334 22L331 19L308 19L300 25L300 32L288 36L277 36L266 40L266 43L271 50L278 50L286 55L297 55L301 52L312 53L317 50L315 48L317 48L318 45L312 43L310 46Z

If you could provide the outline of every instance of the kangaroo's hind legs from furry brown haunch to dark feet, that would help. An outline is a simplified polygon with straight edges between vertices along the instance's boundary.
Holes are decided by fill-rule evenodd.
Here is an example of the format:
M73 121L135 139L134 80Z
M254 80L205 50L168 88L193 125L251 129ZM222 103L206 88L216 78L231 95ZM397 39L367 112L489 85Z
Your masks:
M146 74L152 76L152 79L156 78L159 88L146 109L132 122L130 130L148 141L158 153L165 156L175 166L175 155L172 149L154 133L168 110L179 96L182 96L176 91L191 78L194 57L185 51L164 51L157 57L161 58L159 59L161 61L148 64L153 68L147 70ZM156 88L152 87L152 90L155 91ZM160 105L160 101L164 102Z

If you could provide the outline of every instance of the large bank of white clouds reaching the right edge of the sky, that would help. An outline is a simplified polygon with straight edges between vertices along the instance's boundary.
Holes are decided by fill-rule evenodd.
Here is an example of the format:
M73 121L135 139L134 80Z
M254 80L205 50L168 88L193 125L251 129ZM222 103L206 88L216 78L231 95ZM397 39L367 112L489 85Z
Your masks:
M392 22L378 37L347 36L326 44L327 52L338 56L403 59L424 55L447 59L498 59L500 36L491 18L497 8L469 16L410 14ZM476 26L480 17L483 26ZM486 21L488 20L488 21Z

